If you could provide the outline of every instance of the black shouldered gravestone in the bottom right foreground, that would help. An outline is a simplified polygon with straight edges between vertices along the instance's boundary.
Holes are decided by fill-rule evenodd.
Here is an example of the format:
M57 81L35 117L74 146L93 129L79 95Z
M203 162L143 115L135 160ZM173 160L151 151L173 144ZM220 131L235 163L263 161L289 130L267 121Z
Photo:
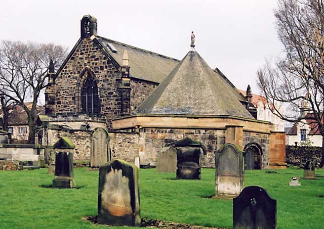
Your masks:
M248 186L233 199L233 229L277 228L277 201L259 186Z

